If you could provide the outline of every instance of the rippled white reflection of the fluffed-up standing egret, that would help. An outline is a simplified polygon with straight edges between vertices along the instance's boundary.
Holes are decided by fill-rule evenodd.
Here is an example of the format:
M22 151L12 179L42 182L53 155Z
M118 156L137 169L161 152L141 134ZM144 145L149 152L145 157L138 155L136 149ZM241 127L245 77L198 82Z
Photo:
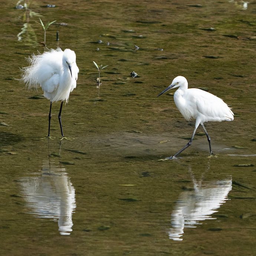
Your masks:
M25 177L21 181L22 193L29 213L39 218L58 220L59 232L72 232L72 214L76 208L75 188L63 165L50 160L43 161L42 170L35 177Z

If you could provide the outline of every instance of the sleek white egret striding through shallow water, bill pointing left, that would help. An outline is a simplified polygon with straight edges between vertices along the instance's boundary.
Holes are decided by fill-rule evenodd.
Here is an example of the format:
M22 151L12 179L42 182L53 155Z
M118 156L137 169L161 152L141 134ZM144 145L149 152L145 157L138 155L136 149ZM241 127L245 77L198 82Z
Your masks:
M172 159L177 157L183 150L188 148L193 141L196 129L201 124L204 129L204 132L207 136L209 142L210 154L213 154L211 151L211 138L208 135L206 128L204 127L204 122L208 121L233 121L234 113L231 111L229 106L217 96L203 91L197 88L188 89L188 82L184 76L177 76L173 79L171 85L169 85L163 92L158 96L167 92L172 88L177 88L177 91L174 93L174 102L178 110L181 112L181 115L187 120L196 119L196 126L193 131L192 137L187 145L178 151L172 157L167 157L167 159ZM158 97L157 96L157 97Z

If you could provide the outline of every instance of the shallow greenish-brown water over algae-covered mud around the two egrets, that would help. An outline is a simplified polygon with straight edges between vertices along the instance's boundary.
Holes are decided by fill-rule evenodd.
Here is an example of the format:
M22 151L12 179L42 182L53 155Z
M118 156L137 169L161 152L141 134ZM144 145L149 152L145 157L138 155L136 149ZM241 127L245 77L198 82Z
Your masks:
M24 6L24 1L18 4ZM253 1L27 1L1 6L1 255L254 255ZM47 7L50 4L51 7ZM55 7L53 7L55 6ZM78 85L63 106L17 79L49 48L75 50ZM56 32L59 41L56 41ZM102 84L97 88L99 66ZM137 76L132 77L132 74ZM187 143L177 75L224 99L232 122Z

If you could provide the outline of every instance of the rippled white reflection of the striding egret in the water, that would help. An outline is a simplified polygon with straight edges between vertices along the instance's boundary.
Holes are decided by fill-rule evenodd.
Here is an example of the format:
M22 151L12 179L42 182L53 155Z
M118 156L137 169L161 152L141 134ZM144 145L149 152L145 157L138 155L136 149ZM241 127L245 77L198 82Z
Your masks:
M200 221L216 219L211 217L227 200L229 191L232 190L232 176L222 179L197 181L190 168L194 190L184 191L180 194L175 208L171 214L171 228L169 238L175 241L183 240L184 228L202 224Z

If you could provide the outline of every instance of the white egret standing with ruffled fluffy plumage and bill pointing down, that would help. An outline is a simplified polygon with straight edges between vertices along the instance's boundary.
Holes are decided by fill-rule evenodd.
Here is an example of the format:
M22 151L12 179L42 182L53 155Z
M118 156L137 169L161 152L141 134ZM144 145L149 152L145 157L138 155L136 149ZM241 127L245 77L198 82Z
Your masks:
M59 124L62 139L63 135L61 124L61 111L63 101L68 102L69 94L76 88L79 68L76 65L76 54L70 49L62 51L60 48L51 49L42 54L27 58L30 63L28 67L22 69L22 79L28 89L42 87L43 95L50 100L49 127L48 135L50 137L50 122L52 102L61 101L59 111ZM46 138L46 137L45 137Z

